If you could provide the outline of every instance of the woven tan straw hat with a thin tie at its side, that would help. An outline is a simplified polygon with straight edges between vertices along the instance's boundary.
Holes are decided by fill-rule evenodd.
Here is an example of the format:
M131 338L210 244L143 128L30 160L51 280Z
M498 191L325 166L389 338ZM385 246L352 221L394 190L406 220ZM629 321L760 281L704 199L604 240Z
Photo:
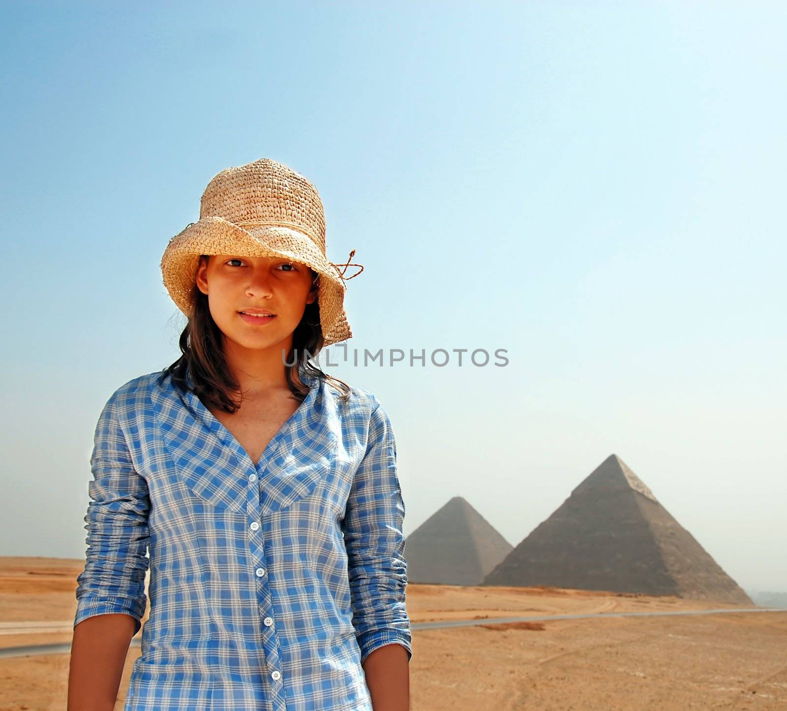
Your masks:
M325 345L353 336L344 308L345 282L364 267L350 261L354 249L346 263L327 260L323 202L303 175L270 158L225 168L202 193L199 217L169 241L161 257L164 286L184 314L190 312L199 255L281 256L308 264L319 275ZM360 270L345 278L350 266Z

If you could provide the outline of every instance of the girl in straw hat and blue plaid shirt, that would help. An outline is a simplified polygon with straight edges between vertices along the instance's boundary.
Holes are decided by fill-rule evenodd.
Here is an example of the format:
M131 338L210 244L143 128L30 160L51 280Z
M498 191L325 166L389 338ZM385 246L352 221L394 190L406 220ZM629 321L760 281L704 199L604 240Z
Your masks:
M183 355L98 419L68 709L113 709L147 594L125 711L409 708L391 423L309 362L352 336L351 265L327 261L316 189L268 159L214 176L169 242Z

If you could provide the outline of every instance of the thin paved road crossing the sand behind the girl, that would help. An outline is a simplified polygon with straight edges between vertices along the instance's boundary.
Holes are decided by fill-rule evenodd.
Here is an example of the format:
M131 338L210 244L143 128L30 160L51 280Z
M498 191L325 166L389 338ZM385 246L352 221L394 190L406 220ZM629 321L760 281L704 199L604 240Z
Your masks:
M589 614L568 614L568 615L543 615L541 617L482 617L478 620L438 620L434 622L413 622L412 629L435 629L444 627L470 627L474 624L504 624L506 622L535 622L552 620L585 620L597 617L662 617L673 615L718 615L718 614L746 614L758 612L783 612L787 613L787 608L743 608L733 610L680 610L679 612L600 612ZM35 632L71 632L73 621L66 622L2 622L0 623L0 635L24 635ZM131 647L139 647L142 643L142 635L137 635L131 639ZM32 647L7 647L0 649L0 658L9 657L28 657L32 654L70 654L71 643L58 644L39 644Z

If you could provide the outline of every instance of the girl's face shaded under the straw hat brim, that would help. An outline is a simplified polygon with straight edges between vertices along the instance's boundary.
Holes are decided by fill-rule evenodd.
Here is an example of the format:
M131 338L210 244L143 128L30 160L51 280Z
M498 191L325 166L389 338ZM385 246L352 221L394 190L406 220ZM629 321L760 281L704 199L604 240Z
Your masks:
M196 282L208 296L210 314L224 336L242 348L289 349L306 304L317 299L306 264L283 257L211 255ZM242 315L270 311L272 318Z

